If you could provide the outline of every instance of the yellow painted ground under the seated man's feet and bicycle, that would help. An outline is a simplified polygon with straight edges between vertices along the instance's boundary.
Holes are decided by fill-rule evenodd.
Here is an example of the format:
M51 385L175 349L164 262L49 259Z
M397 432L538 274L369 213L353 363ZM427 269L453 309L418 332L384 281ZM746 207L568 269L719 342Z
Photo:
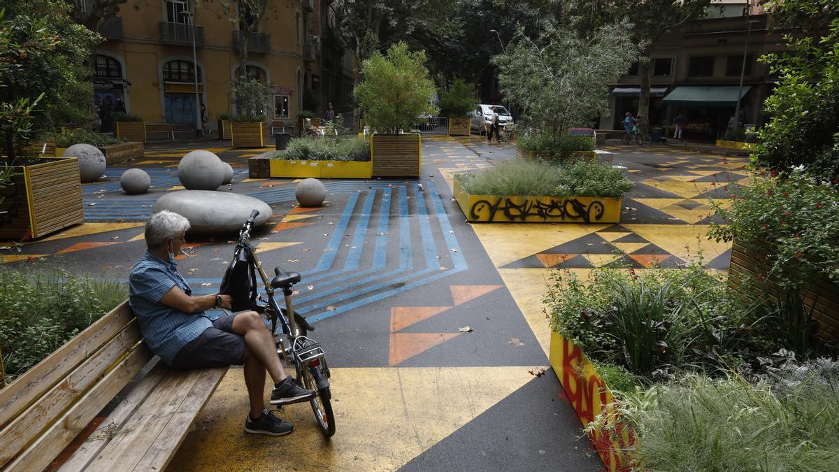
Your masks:
M279 415L294 422L289 436L244 433L247 391L242 370L230 370L169 469L398 469L532 380L531 367L332 369L331 440L308 403Z

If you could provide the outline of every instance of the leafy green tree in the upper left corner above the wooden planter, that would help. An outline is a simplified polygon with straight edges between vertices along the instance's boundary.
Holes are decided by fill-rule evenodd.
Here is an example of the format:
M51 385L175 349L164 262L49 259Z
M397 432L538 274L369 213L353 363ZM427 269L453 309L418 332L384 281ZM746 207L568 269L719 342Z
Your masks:
M89 118L93 93L85 61L99 37L74 23L68 10L60 0L6 3L0 133L10 159L35 132Z

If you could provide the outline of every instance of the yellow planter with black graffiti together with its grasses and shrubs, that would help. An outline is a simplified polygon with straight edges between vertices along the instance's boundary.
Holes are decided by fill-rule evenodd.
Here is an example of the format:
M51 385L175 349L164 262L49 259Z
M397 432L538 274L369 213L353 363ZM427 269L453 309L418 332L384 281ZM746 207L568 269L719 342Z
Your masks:
M619 223L630 188L604 163L514 160L456 175L454 196L470 222Z

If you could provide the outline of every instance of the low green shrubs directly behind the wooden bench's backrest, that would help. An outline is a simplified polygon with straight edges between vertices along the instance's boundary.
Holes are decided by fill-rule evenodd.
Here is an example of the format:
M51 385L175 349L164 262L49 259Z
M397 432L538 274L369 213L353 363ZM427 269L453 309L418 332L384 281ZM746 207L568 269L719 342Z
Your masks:
M0 272L0 339L8 379L29 370L128 297L114 281L60 272Z

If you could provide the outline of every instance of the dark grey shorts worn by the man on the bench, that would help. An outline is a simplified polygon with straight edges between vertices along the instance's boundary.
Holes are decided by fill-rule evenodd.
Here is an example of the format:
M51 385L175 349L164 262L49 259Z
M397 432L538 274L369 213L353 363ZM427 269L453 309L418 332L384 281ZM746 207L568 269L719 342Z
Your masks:
M173 369L206 369L225 365L244 364L245 338L233 333L235 314L219 317L212 322L212 328L206 328L198 338L180 348Z

